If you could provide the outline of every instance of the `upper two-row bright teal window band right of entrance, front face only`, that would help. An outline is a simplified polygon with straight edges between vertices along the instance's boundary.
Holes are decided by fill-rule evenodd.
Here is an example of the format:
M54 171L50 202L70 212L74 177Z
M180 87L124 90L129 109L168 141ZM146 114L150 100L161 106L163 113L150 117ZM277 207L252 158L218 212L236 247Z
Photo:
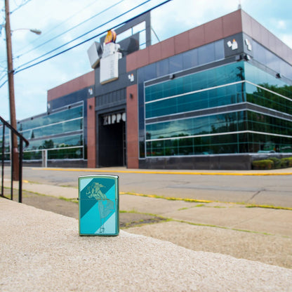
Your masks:
M242 63L216 67L145 87L146 119L244 102L244 86L241 83L213 88L241 81L239 68L243 66Z

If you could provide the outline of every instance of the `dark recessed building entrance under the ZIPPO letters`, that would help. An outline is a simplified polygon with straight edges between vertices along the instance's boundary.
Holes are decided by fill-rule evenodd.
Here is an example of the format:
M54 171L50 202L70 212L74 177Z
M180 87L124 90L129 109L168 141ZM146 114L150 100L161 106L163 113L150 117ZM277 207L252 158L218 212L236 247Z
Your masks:
M126 166L126 114L101 116L98 124L98 166Z

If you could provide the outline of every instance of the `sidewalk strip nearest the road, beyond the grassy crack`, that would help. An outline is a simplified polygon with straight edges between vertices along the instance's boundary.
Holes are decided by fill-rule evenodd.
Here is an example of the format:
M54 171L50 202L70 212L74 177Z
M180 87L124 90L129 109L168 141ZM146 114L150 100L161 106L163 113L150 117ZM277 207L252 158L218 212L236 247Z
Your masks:
M5 183L10 185L9 180ZM22 189L58 198L77 199L78 197L78 190L75 187L24 182ZM139 194L121 193L120 210L152 213L187 223L278 234L292 238L292 210L289 209L247 208L243 204L168 200L151 195L144 197Z

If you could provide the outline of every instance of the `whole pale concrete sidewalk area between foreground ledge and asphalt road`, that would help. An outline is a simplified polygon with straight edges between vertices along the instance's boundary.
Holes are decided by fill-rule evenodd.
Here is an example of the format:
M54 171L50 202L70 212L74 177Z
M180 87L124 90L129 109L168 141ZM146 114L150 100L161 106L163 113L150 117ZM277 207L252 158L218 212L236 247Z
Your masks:
M9 185L9 181L7 181ZM23 183L23 190L76 199L77 188ZM120 194L121 219L138 222L127 232L193 251L209 251L292 269L292 211L246 208L228 203L198 203ZM75 218L78 218L75 216ZM145 224L159 218L158 224ZM168 220L169 219L169 220Z

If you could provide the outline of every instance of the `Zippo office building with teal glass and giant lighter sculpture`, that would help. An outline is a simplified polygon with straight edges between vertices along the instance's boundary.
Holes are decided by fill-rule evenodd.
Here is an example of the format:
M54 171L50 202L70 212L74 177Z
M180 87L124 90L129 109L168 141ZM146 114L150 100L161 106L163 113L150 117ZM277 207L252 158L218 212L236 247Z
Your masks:
M291 156L292 50L247 13L154 45L150 13L116 33L88 49L93 71L19 122L27 159L46 149L51 166L251 169Z

